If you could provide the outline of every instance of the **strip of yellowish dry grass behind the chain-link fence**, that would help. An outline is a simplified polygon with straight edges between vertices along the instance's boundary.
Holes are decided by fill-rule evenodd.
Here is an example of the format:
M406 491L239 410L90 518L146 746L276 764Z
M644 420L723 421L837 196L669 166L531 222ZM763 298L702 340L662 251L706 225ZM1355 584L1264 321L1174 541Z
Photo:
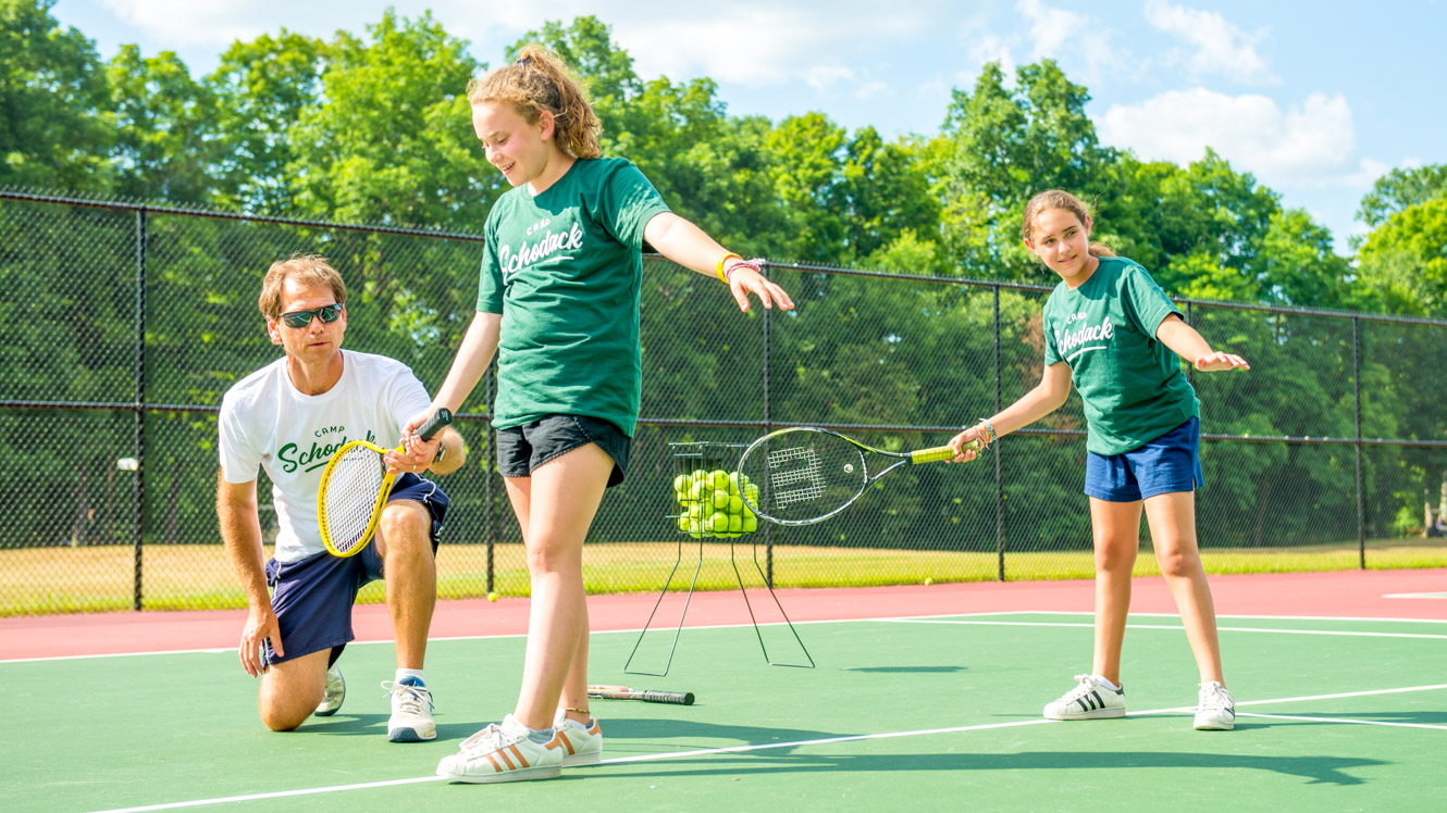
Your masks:
M654 592L677 563L671 589L689 587L697 569L697 589L737 589L738 579L760 586L765 551L747 541L726 542L609 542L589 545L585 580L590 593ZM271 556L271 551L266 551ZM1208 548L1207 573L1292 573L1354 570L1360 566L1354 541L1278 548ZM1447 567L1447 540L1370 540L1370 570ZM218 544L146 545L142 551L143 609L221 609L246 606L230 558ZM735 576L735 566L738 576ZM993 582L998 577L994 551L917 551L884 548L774 548L776 587L851 587L935 582ZM107 612L133 606L135 548L129 545L0 550L0 616L58 612ZM1156 576L1147 544L1136 561L1137 576ZM437 557L437 595L478 597L488 592L483 545L444 545ZM1022 551L1006 554L1006 579L1090 579L1091 553ZM521 545L493 550L493 589L525 596L528 574ZM362 602L381 602L381 583L369 584Z

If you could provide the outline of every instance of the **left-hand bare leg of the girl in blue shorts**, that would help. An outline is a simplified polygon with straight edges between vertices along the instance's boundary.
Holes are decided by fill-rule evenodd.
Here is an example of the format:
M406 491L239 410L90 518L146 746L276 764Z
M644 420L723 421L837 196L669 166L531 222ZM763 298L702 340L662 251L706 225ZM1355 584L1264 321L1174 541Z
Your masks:
M1140 503L1090 498L1095 535L1094 671L1120 686L1120 650L1130 615L1130 571L1140 550Z

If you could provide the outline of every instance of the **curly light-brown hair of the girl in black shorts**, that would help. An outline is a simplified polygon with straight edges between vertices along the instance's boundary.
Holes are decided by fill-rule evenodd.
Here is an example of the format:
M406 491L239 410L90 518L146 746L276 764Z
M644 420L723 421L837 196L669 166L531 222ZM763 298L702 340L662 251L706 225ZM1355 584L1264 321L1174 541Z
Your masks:
M518 59L482 80L467 82L467 104L505 101L528 124L544 110L553 114L557 146L573 158L598 158L603 123L587 103L587 91L567 65L541 45L524 45Z

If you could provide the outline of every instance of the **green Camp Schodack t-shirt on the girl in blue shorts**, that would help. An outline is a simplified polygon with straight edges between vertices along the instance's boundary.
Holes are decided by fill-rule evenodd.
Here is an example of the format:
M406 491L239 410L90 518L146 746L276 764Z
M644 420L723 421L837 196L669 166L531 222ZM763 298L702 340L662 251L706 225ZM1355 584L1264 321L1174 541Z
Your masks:
M1146 269L1100 257L1084 285L1062 281L1045 302L1045 363L1065 362L1085 404L1085 448L1121 454L1201 414L1181 359L1156 328L1181 311Z

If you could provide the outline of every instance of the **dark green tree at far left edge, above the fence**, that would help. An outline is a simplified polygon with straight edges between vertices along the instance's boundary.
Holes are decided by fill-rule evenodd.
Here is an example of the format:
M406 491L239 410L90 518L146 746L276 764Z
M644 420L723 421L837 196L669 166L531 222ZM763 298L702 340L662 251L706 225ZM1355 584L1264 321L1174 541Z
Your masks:
M0 0L0 184L110 188L106 71L96 45L61 29L55 0Z

